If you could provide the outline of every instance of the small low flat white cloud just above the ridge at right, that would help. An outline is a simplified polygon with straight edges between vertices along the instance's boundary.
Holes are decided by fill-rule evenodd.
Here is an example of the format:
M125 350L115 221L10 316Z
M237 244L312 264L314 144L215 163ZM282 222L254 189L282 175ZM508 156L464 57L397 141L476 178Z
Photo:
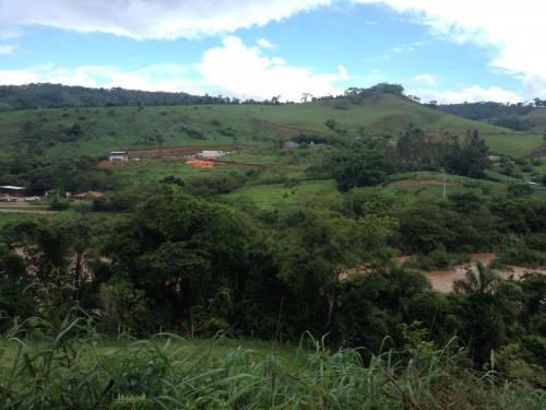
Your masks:
M415 89L408 90L408 93L412 95L418 95L424 102L437 101L440 104L455 104L462 102L477 103L483 101L517 103L521 101L521 97L517 93L498 86L485 89L480 85L473 85L455 91Z

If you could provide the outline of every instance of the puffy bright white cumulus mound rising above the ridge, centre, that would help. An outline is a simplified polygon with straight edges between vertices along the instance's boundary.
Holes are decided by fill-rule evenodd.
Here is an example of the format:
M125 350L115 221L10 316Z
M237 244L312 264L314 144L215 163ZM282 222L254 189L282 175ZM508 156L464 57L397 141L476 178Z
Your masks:
M197 70L203 81L217 93L242 98L299 101L301 94L337 94L334 83L341 73L314 73L310 69L289 66L284 60L262 56L258 47L247 47L240 38L224 38L222 46L206 50Z

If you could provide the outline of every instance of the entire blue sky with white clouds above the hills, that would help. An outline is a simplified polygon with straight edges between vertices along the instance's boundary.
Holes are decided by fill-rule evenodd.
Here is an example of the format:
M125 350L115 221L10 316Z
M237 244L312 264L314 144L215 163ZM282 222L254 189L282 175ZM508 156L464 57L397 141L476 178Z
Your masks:
M0 0L0 84L546 98L545 0Z

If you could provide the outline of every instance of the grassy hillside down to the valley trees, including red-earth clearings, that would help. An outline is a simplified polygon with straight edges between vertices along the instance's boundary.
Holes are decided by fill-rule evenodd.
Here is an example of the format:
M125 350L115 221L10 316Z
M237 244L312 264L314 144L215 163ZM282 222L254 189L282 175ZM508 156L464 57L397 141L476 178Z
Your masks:
M440 138L476 129L490 151L515 157L543 151L541 134L472 121L392 93L373 92L357 103L330 98L277 105L39 108L0 113L0 183L35 192L56 186L104 191L166 176L214 176L222 180L214 184L230 191L258 172L265 184L307 179L310 167L313 178L331 177L320 169L334 145L396 140L410 125ZM286 141L314 144L312 150L283 150ZM186 155L206 149L228 152L224 163L214 164L223 166L187 163ZM129 151L132 161L111 166L105 160L112 150Z

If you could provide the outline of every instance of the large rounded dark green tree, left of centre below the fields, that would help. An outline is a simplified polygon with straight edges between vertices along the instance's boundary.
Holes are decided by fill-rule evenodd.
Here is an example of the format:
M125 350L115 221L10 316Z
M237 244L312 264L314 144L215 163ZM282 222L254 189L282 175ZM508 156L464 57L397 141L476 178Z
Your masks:
M165 324L188 320L225 289L234 305L261 268L261 236L227 207L163 185L131 219L117 226L106 244L115 266L144 290ZM264 262L265 265L265 262ZM222 312L230 319L232 312Z

